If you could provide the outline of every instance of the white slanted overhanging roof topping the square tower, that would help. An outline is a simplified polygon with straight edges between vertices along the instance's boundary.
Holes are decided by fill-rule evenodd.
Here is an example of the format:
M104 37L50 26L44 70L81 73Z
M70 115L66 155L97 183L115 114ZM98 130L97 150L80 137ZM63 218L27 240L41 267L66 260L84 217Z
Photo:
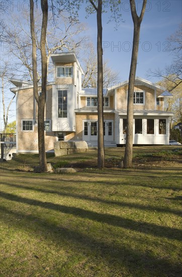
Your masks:
M76 62L79 67L79 70L81 71L81 74L83 74L81 65L74 52L54 53L51 54L51 59L53 64L55 64L55 62Z

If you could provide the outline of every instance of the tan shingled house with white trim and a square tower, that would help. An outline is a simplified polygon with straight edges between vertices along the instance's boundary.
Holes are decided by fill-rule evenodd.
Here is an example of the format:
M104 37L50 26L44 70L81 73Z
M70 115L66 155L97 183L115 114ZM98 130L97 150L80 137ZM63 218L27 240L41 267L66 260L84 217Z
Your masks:
M51 55L54 81L47 84L45 107L46 151L56 141L83 140L97 146L97 89L81 88L83 74L74 52ZM15 86L17 109L17 152L38 152L37 104L33 85L11 79ZM41 94L41 85L39 85ZM122 146L126 142L128 81L104 89L105 146ZM135 80L134 145L167 145L172 113L164 111L164 98L171 97L163 88L141 78Z

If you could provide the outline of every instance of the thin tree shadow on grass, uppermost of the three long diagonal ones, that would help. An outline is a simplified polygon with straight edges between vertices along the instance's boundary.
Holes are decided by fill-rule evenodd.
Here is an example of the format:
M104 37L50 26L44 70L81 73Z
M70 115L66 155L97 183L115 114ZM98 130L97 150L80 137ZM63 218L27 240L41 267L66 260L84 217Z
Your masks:
M100 202L103 204L109 204L110 207L113 207L113 205L117 205L118 208L120 208L120 209L122 209L123 207L129 207L129 208L135 209L135 210L170 213L170 214L174 214L177 216L181 216L181 211L166 209L165 207L142 205L142 204L138 204L138 203L124 202L124 201L112 201L112 200L102 199L99 197L91 197L91 196L84 195L84 194L80 195L80 194L70 193L70 192L65 192L65 191L60 192L60 191L56 191L56 190L37 188L36 186L24 186L24 185L16 185L16 184L9 184L9 183L4 183L4 184L11 186L11 187L23 188L23 189L27 189L27 190L35 190L35 191L39 191L39 192L43 192L43 193L57 194L60 196L73 197L73 198L77 198L80 200L90 200L90 201L94 201L94 202ZM72 187L70 187L70 188L72 188ZM66 190L67 190L67 187L66 187ZM166 197L162 197L162 198L166 198ZM166 198L166 199L172 199L172 198ZM180 196L175 197L175 200L181 200L181 199L182 199L182 197L180 198ZM103 208L104 208L104 206L103 206ZM116 209L117 209L117 207L116 207Z

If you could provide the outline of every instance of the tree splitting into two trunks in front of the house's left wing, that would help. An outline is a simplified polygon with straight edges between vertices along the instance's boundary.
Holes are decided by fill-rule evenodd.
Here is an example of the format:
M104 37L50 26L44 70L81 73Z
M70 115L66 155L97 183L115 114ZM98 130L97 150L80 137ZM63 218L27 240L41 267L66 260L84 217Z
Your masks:
M30 0L30 27L32 38L32 64L33 64L33 82L34 82L34 96L38 104L38 148L39 148L39 162L40 171L47 172L47 160L45 152L45 134L44 134L44 112L46 102L46 88L47 88L47 55L46 55L46 31L48 22L48 2L41 0L42 9L42 28L41 28L41 63L42 63L42 94L38 94L38 77L37 77L37 41L35 35L34 22L34 0Z

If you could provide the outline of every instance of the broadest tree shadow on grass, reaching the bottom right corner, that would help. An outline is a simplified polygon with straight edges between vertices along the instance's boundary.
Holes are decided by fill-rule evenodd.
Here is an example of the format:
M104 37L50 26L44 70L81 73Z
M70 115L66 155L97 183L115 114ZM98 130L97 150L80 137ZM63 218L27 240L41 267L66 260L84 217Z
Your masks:
M117 273L119 271L122 276L122 268L127 267L128 273L131 276L180 276L181 266L178 262L173 264L169 259L155 257L147 251L141 252L137 249L132 249L132 247L129 248L125 244L122 244L122 241L121 243L114 241L110 244L96 237L93 238L83 234L78 229L71 230L57 226L34 215L25 215L24 213L10 211L7 208L4 208L4 213L6 217L2 220L5 223L7 222L9 226L22 229L23 231L28 229L31 235L38 232L38 236L44 237L46 241L55 241L64 250L67 250L67 247L69 247L74 255L81 253L83 259L90 256L89 261L91 264L94 253L94 256L98 260L111 268L112 274L114 273L113 270L117 270ZM16 219L18 217L21 221L8 221L8 215L13 215ZM71 269L74 270L74 268Z

